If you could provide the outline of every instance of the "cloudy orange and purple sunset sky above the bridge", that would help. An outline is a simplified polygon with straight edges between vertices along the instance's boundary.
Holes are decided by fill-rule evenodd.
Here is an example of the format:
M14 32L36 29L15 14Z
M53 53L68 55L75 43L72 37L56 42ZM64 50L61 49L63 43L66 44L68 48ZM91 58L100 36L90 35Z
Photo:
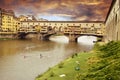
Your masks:
M104 21L112 0L0 0L16 16L34 15L49 21Z

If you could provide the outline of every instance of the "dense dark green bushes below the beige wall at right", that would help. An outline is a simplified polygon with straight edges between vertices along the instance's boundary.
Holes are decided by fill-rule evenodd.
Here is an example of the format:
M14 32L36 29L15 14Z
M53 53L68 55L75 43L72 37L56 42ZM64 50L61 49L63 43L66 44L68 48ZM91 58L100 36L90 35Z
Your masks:
M79 80L120 80L120 42L95 46L100 61L90 66L87 74L79 76Z

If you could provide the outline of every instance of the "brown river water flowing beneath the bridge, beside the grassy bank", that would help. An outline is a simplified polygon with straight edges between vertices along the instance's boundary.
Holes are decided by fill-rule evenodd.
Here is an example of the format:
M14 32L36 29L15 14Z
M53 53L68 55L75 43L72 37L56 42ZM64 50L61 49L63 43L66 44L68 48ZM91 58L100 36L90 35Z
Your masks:
M53 37L51 41L0 41L0 80L34 80L49 67L76 52L89 51L93 46L64 39L62 36Z

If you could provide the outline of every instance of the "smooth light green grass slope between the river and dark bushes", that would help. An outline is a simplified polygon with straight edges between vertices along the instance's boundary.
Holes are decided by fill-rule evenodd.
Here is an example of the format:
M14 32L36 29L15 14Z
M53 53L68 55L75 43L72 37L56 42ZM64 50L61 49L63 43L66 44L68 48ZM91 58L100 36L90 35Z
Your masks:
M42 75L39 75L36 80L73 80L78 73L85 73L88 70L88 58L94 54L79 53L59 63L49 69ZM79 64L78 64L79 63ZM79 68L79 70L76 70ZM60 75L65 74L64 77Z

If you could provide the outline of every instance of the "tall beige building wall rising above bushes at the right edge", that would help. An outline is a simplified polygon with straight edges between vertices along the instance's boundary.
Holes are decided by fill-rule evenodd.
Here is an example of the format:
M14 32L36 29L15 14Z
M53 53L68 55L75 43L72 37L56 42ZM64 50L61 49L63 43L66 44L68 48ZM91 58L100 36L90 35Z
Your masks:
M105 41L120 40L120 0L113 0L105 20Z

